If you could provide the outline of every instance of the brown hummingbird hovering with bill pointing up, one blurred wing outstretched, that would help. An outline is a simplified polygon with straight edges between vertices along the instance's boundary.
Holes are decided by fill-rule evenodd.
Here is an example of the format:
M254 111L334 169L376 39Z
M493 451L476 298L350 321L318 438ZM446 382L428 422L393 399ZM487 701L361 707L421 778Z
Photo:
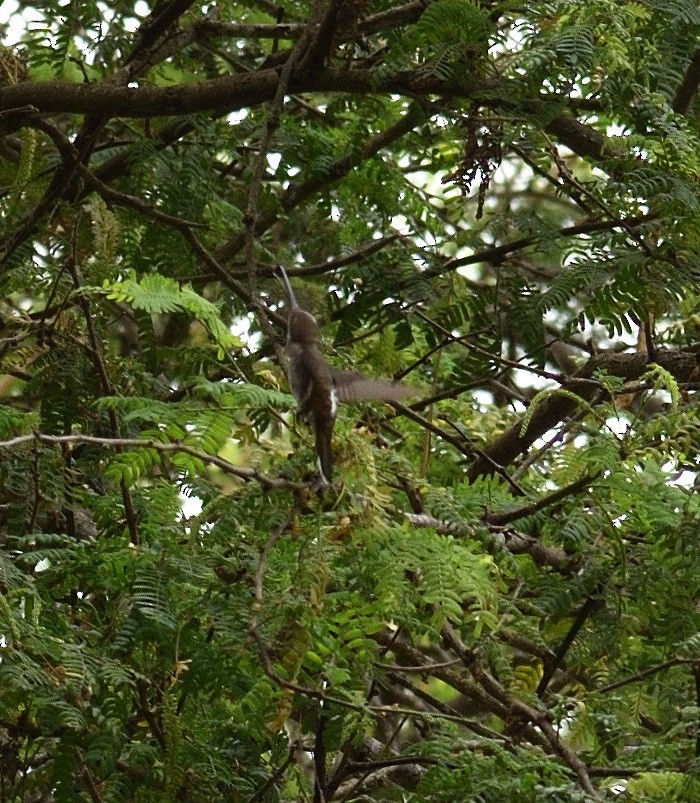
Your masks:
M324 485L333 474L331 439L338 404L352 401L399 401L415 389L385 379L370 379L356 371L337 371L323 356L319 325L299 306L286 271L279 267L289 303L287 376L301 418L314 433L318 468Z

